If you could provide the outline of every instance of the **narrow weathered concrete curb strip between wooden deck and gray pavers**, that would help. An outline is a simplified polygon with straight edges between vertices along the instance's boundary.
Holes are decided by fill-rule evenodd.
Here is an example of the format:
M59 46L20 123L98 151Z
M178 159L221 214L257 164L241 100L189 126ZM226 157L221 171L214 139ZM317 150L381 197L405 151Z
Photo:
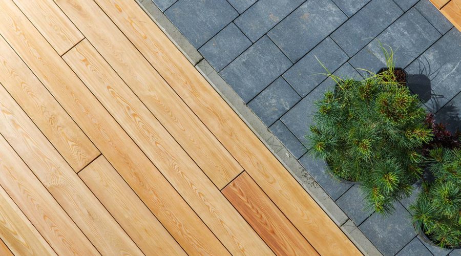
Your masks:
M231 106L240 118L250 127L258 138L269 148L276 158L288 169L290 174L301 184L307 193L319 204L326 214L336 223L346 236L365 254L382 255L367 239L362 231L353 224L341 208L328 196L307 170L292 156L280 140L271 133L259 117L253 113L237 93L213 69L202 55L179 32L170 20L160 11L152 0L136 0L157 26L162 29L176 47L212 84L221 97Z

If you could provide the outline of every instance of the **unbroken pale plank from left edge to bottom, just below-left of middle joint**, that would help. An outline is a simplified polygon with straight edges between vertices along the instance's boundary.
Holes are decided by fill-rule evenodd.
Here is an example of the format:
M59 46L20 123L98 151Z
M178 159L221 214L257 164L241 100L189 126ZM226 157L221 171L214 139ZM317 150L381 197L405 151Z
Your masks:
M103 254L142 255L77 174L0 87L0 133Z

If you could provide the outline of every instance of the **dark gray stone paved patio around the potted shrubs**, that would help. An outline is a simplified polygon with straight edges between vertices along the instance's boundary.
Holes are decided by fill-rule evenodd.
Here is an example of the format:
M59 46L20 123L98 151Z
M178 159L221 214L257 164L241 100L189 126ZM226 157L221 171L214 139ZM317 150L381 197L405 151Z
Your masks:
M334 181L305 154L313 102L334 83L384 66L396 51L437 121L461 126L461 33L428 0L153 0L198 52L384 255L461 255L416 237L408 206L388 218L364 211L358 185ZM417 82L429 77L430 88ZM412 82L414 81L414 82ZM417 185L415 185L417 188Z

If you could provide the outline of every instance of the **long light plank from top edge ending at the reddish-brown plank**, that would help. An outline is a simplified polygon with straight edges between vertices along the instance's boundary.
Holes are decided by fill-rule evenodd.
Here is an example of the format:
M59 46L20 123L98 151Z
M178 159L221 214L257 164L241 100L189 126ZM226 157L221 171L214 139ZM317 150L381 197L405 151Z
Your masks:
M93 0L55 2L218 188L243 171Z

